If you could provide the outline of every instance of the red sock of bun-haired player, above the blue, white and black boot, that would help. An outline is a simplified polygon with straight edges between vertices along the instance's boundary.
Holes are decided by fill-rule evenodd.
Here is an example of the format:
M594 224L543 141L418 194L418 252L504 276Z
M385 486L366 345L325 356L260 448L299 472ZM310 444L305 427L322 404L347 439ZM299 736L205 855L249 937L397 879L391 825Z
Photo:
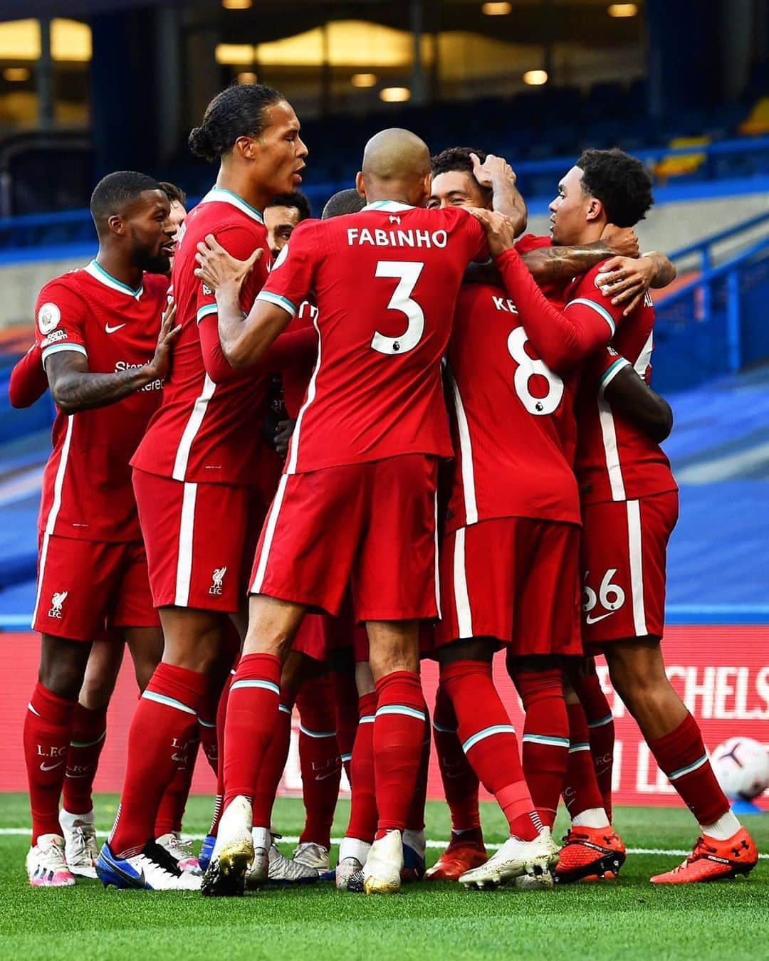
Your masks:
M207 685L205 675L161 661L139 698L128 732L123 793L110 835L117 857L137 854L153 836L178 758L197 738L198 706Z

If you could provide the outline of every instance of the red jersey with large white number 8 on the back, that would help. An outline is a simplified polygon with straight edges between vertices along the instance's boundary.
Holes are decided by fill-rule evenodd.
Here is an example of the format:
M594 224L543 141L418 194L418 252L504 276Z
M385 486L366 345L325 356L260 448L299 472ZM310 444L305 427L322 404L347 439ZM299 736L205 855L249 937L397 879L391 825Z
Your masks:
M579 524L575 378L536 357L501 287L461 288L448 381L457 459L446 531L495 517Z

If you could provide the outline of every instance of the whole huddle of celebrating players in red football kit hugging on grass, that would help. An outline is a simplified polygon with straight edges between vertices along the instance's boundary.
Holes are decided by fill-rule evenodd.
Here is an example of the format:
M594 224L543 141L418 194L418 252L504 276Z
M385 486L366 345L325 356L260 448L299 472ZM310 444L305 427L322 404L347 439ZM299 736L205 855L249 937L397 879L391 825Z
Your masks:
M633 232L645 168L585 151L534 236L505 160L431 158L390 129L311 219L299 130L277 91L222 91L189 136L219 163L201 202L186 214L178 187L109 175L96 258L38 295L11 382L14 406L50 388L58 408L24 725L30 883L235 896L616 876L598 654L699 825L652 880L747 874L756 845L660 648L678 493L649 288L675 270ZM99 850L91 788L124 645L142 693ZM520 740L492 677L503 650ZM294 706L307 818L289 858L272 807ZM452 834L426 872L433 740ZM217 790L196 857L182 820L199 746ZM482 783L509 824L490 857Z

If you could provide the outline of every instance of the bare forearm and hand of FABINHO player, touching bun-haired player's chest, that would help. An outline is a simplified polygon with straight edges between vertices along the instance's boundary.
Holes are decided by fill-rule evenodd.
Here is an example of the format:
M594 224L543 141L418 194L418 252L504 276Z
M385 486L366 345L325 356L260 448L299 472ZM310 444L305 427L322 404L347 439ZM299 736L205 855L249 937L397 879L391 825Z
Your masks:
M270 344L291 319L285 308L256 300L244 317L240 309L240 287L262 255L258 248L248 260L236 260L216 241L213 234L198 244L195 255L199 277L216 295L219 341L228 363L235 370L251 367L269 350Z

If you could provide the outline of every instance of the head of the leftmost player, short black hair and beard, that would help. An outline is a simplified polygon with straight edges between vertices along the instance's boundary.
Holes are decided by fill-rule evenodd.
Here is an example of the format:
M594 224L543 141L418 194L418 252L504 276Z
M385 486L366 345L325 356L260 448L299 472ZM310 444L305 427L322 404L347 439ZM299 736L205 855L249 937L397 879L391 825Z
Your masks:
M93 188L90 215L99 245L122 248L132 265L166 274L173 254L170 202L161 185L135 170L116 170Z

